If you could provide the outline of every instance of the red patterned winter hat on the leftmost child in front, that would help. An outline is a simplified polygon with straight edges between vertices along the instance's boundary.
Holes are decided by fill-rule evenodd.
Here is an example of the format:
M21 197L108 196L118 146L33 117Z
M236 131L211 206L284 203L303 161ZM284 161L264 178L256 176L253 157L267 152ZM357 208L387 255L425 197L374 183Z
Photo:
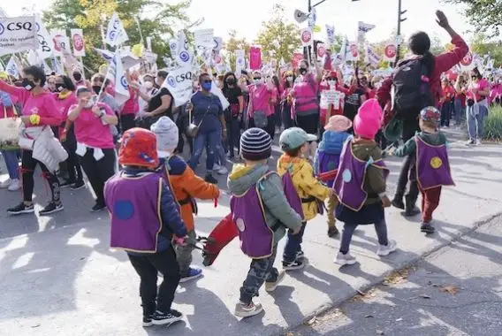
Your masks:
M156 134L139 127L126 131L118 151L118 163L156 168L159 164L156 152Z

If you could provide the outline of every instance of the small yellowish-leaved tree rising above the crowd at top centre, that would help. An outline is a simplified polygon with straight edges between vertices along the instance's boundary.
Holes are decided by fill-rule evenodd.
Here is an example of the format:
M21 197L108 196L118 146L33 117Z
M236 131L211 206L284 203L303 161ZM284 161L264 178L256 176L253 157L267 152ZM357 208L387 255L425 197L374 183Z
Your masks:
M272 18L262 22L262 30L255 40L262 46L263 58L270 60L283 58L290 62L293 52L300 48L300 29L285 19L285 7L274 4Z

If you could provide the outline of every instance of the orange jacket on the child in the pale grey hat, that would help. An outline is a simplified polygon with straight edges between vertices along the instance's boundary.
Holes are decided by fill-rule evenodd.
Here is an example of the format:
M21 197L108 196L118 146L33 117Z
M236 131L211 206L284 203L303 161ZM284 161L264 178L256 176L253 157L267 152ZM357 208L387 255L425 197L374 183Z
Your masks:
M169 176L172 194L179 203L181 218L185 222L186 230L194 230L194 214L197 214L197 203L194 198L211 200L219 196L219 189L216 185L210 184L197 175L190 168L183 158L172 156L167 158L167 162L161 164L164 170L164 179ZM166 175L165 172L169 174Z

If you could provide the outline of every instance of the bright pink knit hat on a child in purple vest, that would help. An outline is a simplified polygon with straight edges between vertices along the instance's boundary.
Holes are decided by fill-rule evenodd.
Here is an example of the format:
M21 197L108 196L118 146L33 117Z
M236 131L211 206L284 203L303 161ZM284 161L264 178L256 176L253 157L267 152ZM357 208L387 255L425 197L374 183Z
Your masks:
M362 103L354 118L354 132L365 139L375 138L375 134L382 126L384 112L376 99L369 99Z

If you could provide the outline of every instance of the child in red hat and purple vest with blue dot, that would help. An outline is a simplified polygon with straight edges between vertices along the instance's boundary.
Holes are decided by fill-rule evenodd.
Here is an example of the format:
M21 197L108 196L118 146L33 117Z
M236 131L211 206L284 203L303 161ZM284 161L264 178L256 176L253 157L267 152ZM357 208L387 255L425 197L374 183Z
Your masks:
M183 243L186 227L171 190L155 172L158 166L156 136L142 128L125 132L118 154L124 171L104 186L111 215L111 248L127 252L141 278L143 325L169 325L182 314L171 309L179 284L179 265L172 248L173 233ZM158 287L157 272L164 276Z

